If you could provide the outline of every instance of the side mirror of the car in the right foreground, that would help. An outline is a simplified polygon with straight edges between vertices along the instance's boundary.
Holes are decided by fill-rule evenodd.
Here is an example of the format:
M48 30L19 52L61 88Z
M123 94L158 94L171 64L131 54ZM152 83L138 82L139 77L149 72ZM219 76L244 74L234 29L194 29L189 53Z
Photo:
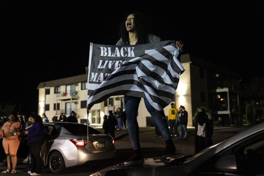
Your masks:
M219 158L215 163L215 167L218 171L222 172L237 172L236 156L228 155Z

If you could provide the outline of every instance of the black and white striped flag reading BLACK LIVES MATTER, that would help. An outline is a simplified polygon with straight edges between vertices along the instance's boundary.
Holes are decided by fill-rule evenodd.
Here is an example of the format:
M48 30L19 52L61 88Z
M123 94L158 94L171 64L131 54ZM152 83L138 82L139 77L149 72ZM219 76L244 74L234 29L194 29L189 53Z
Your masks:
M114 95L147 98L158 111L168 106L184 68L175 41L139 45L90 44L87 114Z

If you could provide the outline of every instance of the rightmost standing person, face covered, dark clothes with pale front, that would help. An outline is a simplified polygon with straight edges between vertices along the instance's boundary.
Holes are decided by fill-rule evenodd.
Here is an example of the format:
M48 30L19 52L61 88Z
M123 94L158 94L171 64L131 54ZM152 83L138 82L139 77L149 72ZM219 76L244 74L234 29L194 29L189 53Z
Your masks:
M206 115L204 108L197 108L197 115L194 117L195 132L194 132L194 151L198 153L205 148L213 145L213 122Z

